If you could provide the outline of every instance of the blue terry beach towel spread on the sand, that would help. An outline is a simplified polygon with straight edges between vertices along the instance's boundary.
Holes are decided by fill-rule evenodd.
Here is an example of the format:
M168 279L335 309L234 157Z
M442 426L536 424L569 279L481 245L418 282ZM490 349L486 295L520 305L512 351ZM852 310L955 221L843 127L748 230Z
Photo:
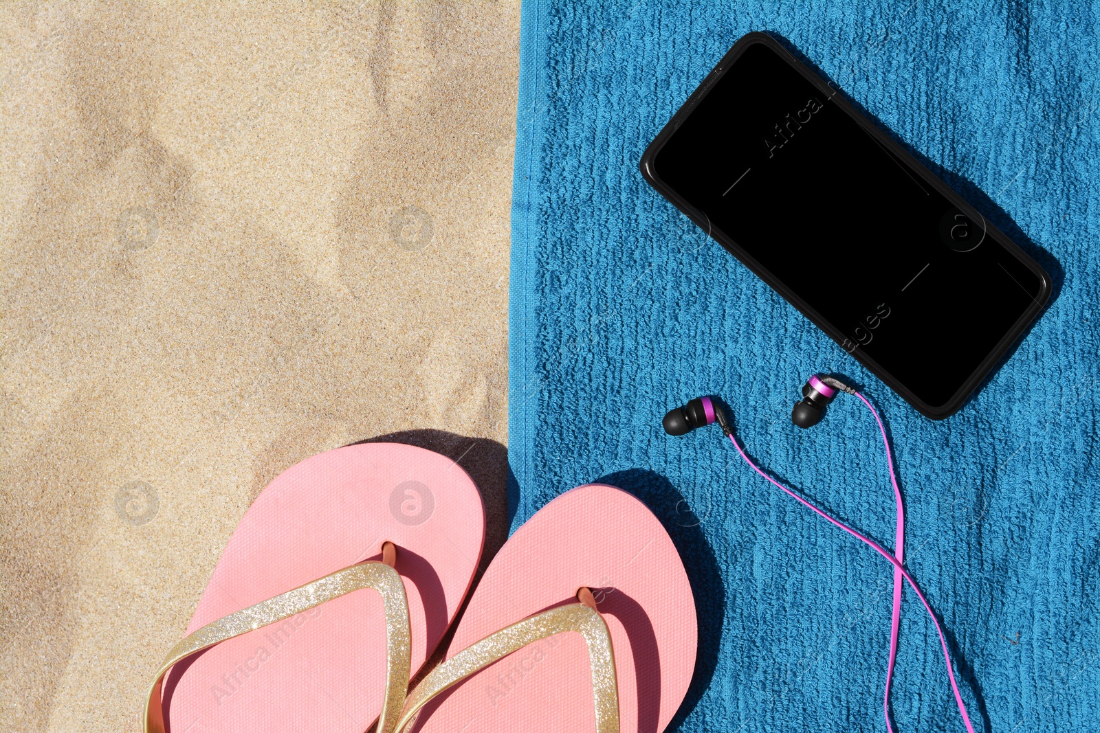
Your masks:
M692 577L700 662L673 728L884 731L891 570L670 408L730 407L781 480L893 544L869 413L789 419L814 371L891 431L908 564L949 630L978 730L1100 731L1100 53L1096 5L526 0L512 254L513 529L603 479L661 517ZM766 30L1040 260L1055 292L978 396L920 417L641 179L650 140ZM844 277L843 270L836 277ZM960 314L959 329L972 327ZM911 591L894 720L960 731Z

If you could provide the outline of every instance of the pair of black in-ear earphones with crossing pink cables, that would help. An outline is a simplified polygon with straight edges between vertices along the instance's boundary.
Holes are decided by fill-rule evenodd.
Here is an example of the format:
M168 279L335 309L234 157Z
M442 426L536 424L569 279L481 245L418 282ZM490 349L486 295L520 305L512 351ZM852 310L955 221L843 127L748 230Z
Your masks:
M890 733L893 733L893 728L890 723L890 682L893 678L894 660L898 656L898 629L901 620L902 588L903 582L908 582L916 593L917 598L921 599L921 602L924 604L925 610L927 610L928 615L932 617L932 622L935 624L936 631L939 633L939 644L944 651L944 663L947 665L947 677L952 684L952 691L955 693L955 703L958 706L959 714L963 717L963 722L966 724L967 732L974 733L974 726L970 724L970 717L967 714L966 706L963 703L963 696L959 692L958 684L955 681L955 673L952 670L952 657L950 653L947 651L947 641L944 637L944 630L941 628L939 621L936 619L936 614L932 611L932 606L928 604L924 593L921 592L916 581L913 580L913 577L910 575L904 565L905 514L902 508L901 489L898 486L898 478L894 475L893 456L890 452L890 442L887 438L887 431L882 424L882 419L879 418L878 411L866 397L839 379L829 376L813 375L802 388L803 399L798 402L791 411L791 422L803 429L816 425L821 422L825 408L833 401L838 392L845 392L858 397L867 409L871 411L871 414L875 415L875 421L879 425L879 432L882 433L882 443L887 449L887 466L890 469L890 482L893 485L894 500L898 506L897 542L893 554L870 537L857 532L840 520L835 519L818 509L809 500L783 486L752 463L752 459L749 458L748 454L746 454L741 446L737 443L737 438L734 437L733 425L730 425L729 420L722 410L722 407L710 397L698 397L691 400L682 408L674 408L670 410L668 414L664 415L664 431L669 435L685 435L697 427L704 427L717 422L722 427L722 432L729 438L729 442L734 444L734 447L737 448L737 453L740 454L741 458L745 459L745 463L751 466L757 474L766 478L772 485L781 489L783 492L795 499L799 503L803 504L822 519L831 522L835 526L864 542L879 555L884 557L894 568L893 612L890 626L890 659L887 664L886 692L882 701L883 712L887 719L887 730Z

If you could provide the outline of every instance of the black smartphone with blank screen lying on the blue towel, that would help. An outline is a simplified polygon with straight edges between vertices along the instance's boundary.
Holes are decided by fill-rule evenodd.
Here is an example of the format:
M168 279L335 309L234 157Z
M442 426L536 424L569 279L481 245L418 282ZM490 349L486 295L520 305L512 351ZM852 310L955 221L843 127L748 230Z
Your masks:
M932 419L1050 296L1034 259L766 33L734 44L641 174Z

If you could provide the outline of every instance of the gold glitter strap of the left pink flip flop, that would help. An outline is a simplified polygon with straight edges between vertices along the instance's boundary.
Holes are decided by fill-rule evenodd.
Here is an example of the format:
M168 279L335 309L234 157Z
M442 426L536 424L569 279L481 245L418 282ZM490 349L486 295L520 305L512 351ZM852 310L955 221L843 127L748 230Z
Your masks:
M386 613L386 689L378 714L378 733L392 733L405 702L409 685L409 607L405 584L393 567L374 560L352 565L300 588L261 601L255 606L211 621L176 644L156 671L145 700L145 733L164 733L161 686L168 669L186 657L233 638L308 611L324 601L354 590L374 589L382 596Z

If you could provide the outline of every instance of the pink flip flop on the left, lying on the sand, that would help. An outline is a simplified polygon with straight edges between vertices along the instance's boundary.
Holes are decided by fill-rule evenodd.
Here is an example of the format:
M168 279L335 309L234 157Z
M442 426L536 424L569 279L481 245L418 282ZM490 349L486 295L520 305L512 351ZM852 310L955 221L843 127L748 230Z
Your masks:
M360 444L288 468L230 537L145 730L362 733L380 714L391 730L484 538L477 488L431 451Z

